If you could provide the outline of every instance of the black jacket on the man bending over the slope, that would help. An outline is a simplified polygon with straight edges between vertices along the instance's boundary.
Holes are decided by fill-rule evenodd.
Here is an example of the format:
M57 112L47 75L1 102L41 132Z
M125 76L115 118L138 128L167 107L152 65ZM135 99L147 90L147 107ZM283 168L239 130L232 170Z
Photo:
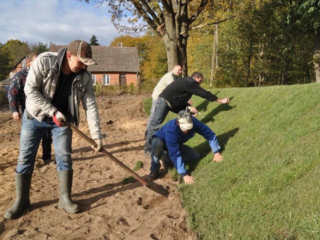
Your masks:
M190 76L178 78L159 94L159 97L167 100L171 104L171 111L178 113L189 105L187 101L192 94L215 101L217 96L199 86L196 80Z

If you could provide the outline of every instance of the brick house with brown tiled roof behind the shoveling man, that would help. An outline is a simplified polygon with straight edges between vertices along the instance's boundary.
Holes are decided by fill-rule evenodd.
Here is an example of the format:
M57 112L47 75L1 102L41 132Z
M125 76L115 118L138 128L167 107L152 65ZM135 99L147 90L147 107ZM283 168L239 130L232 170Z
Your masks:
M66 45L50 45L50 51L57 52ZM92 58L97 65L88 66L93 84L102 85L140 84L140 66L136 47L91 46Z

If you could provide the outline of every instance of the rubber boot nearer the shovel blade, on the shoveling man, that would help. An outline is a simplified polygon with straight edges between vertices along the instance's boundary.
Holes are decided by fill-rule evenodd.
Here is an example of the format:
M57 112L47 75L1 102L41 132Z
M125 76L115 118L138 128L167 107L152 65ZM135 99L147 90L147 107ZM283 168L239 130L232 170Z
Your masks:
M67 213L77 213L80 211L78 205L72 203L71 200L72 175L72 169L58 171L60 192L58 208L64 209Z

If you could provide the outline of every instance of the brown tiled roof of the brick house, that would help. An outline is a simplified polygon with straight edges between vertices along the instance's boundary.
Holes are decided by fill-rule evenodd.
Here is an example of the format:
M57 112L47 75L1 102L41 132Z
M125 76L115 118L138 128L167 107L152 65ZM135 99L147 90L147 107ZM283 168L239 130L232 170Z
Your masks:
M66 45L50 45L58 52ZM140 72L138 50L130 46L91 46L92 58L97 65L88 66L91 72Z

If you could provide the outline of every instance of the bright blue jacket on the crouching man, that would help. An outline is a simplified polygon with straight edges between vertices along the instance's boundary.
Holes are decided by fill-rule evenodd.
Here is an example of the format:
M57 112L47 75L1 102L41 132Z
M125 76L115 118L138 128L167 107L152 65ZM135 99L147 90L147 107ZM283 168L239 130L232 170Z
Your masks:
M213 153L218 152L220 149L215 133L207 125L193 116L192 122L193 127L187 134L181 131L180 127L176 123L176 119L169 120L158 131L154 133L154 136L160 138L165 142L166 147L168 148L170 159L180 175L185 175L183 173L186 173L186 170L180 154L179 145L188 141L195 135L195 133L199 133L209 142Z

